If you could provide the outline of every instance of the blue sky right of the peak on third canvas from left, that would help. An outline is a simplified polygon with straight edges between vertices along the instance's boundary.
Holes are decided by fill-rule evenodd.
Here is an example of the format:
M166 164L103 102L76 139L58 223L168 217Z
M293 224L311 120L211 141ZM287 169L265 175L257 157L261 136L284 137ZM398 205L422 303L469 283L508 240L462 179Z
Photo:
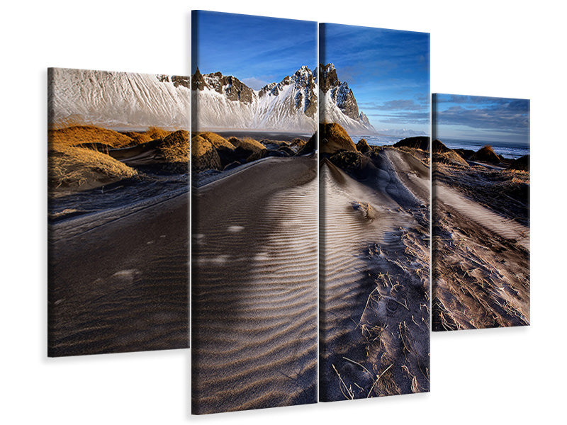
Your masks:
M430 133L430 35L322 24L321 61L332 62L374 128Z

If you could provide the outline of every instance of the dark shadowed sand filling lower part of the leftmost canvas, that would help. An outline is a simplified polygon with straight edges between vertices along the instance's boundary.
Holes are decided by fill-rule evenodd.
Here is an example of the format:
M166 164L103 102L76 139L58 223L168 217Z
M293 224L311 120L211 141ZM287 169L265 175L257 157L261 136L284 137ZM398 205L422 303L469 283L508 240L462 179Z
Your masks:
M50 225L49 356L185 348L189 196Z

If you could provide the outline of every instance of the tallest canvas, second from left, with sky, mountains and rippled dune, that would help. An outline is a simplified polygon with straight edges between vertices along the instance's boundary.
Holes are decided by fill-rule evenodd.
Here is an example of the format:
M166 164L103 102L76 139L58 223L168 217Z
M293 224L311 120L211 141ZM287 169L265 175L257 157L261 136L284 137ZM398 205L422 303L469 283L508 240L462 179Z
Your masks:
M317 27L192 28L192 412L314 403Z

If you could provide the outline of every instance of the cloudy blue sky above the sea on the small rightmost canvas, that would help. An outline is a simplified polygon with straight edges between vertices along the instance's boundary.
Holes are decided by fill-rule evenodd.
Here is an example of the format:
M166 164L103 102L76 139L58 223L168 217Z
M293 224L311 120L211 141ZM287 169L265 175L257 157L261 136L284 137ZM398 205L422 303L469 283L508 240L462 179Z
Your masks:
M435 94L439 140L529 143L529 100Z

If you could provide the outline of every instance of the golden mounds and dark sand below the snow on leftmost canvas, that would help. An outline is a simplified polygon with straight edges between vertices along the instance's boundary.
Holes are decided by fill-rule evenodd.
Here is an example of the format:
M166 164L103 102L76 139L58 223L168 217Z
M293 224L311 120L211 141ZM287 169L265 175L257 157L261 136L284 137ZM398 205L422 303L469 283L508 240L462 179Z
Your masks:
M189 133L50 130L48 356L189 346Z

